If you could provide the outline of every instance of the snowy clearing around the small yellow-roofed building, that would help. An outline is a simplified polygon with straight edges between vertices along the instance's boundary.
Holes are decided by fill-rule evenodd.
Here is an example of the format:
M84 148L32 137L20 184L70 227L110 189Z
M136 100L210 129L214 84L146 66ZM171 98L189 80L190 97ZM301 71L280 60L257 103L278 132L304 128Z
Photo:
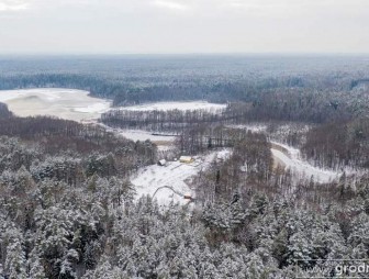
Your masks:
M143 194L149 194L157 199L159 204L166 205L170 202L187 204L189 200L185 194L194 197L194 192L188 185L188 180L199 171L209 167L216 158L224 158L231 154L231 149L212 152L205 156L197 156L195 161L182 164L180 161L168 161L165 167L158 165L147 166L131 177L132 183L136 187L136 199ZM169 188L172 188L169 189ZM155 196L154 196L155 194Z

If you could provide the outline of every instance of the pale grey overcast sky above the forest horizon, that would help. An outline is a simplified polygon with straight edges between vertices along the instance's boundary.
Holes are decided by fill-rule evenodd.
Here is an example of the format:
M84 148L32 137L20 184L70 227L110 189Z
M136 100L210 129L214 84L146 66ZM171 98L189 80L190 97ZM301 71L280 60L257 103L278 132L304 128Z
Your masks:
M369 0L0 0L8 53L369 53Z

